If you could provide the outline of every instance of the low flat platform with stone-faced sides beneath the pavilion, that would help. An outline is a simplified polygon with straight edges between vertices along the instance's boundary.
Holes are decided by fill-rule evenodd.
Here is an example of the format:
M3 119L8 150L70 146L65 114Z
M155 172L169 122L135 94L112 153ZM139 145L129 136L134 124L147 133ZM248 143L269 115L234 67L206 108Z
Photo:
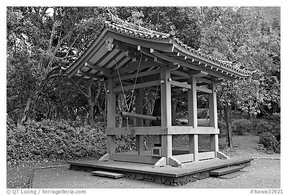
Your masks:
M183 168L160 167L127 162L97 162L97 160L68 162L71 170L76 171L109 171L125 174L126 178L155 182L159 184L181 186L210 177L209 172L228 166L246 167L251 165L252 158L210 159L191 163L183 163Z

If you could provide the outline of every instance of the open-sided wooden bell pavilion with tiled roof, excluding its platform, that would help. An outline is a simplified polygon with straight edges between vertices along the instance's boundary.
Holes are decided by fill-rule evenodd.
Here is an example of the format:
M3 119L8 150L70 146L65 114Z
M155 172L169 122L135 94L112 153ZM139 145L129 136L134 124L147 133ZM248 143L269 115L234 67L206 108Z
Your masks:
M237 69L184 44L176 34L155 32L127 23L111 14L98 37L68 69L68 77L102 81L108 86L107 154L100 161L114 160L160 166L213 158L227 158L218 149L216 84L223 80L250 79L252 72ZM186 94L171 95L185 88ZM158 92L161 115L143 115L144 91ZM136 96L135 127L116 127L116 95ZM210 125L197 125L197 96L208 95ZM171 99L188 98L188 125L171 125ZM160 126L143 126L143 119L160 120ZM188 134L189 150L172 150L172 135ZM198 151L198 135L210 135L210 151ZM116 153L116 135L136 135L136 151ZM144 135L158 135L152 150L143 149Z

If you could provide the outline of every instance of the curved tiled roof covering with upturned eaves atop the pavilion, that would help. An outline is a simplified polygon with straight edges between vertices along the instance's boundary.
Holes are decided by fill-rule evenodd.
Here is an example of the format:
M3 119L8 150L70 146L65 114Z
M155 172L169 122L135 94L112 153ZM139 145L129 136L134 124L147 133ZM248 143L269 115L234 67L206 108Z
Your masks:
M174 58L174 60L178 60L185 63L185 66L188 65L187 67L189 67L189 65L191 66L198 66L200 65L200 63L205 64L205 68L201 68L199 70L203 70L203 71L209 71L211 73L211 75L217 75L216 77L219 78L220 76L223 76L224 78L230 79L232 78L232 75L234 75L233 77L237 78L237 79L241 79L241 78L250 78L251 75L254 72L250 72L250 71L246 71L246 70L242 70L239 69L237 67L234 66L233 62L227 62L227 61L223 61L223 60L219 60L216 57L212 57L211 55L207 55L203 50L201 49L194 49L190 46L188 46L187 44L185 44L183 41L181 41L179 38L177 38L176 36L174 36L176 33L173 31L171 31L170 33L161 33L161 32L156 32L147 28L144 28L142 26L138 26L129 22L126 22L116 16L114 16L112 13L110 13L110 18L107 19L105 21L104 24L104 28L102 29L102 32L100 33L100 35L93 41L90 41L87 44L87 49L85 49L84 52L82 52L82 54L80 55L81 57L78 57L75 62L73 63L74 65L72 65L68 70L67 73L68 75L74 75L76 69L83 67L82 64L82 60L80 60L82 58L82 56L85 55L89 55L86 54L88 52L88 50L92 50L93 47L95 47L95 44L97 44L97 42L101 39L101 36L105 36L104 34L108 31L113 31L116 32L117 34L122 34L124 36L128 36L128 37L134 37L138 40L147 40L147 41L156 41L154 42L154 46L156 44L168 44L168 45L173 45L172 50L168 49L165 51L168 51L167 54L165 53L165 55L167 55L167 57L170 58ZM153 44L153 43L152 43ZM93 47L91 47L93 46ZM152 46L150 47L152 48ZM170 47L171 48L171 47ZM90 53L90 51L88 53ZM161 53L160 53L161 54ZM176 56L177 54L177 56ZM170 56L169 56L170 55ZM183 60L184 57L184 60ZM85 58L85 57L84 57ZM192 63L191 63L192 61ZM81 64L80 67L78 67L78 64ZM197 64L199 63L199 64ZM208 67L207 67L208 66ZM78 67L78 68L77 68ZM213 69L215 68L215 69ZM213 70L212 70L213 69ZM221 71L217 72L218 70ZM212 72L214 74L212 74ZM225 75L226 72L227 74ZM230 75L228 75L230 74Z

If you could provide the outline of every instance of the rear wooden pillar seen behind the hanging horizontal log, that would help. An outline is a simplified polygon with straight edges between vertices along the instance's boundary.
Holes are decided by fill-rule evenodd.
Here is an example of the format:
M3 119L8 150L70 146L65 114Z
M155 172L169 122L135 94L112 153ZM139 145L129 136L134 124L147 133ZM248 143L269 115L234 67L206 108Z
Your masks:
M143 114L143 89L136 90L136 113ZM143 126L143 119L136 118L136 126ZM143 135L136 135L136 151L143 155Z

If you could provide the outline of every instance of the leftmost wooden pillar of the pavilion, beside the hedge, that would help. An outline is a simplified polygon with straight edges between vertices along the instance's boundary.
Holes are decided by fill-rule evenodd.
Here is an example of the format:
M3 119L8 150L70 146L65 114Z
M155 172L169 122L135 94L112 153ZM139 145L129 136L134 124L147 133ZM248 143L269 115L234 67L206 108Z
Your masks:
M113 88L115 86L116 84L113 82L113 80L109 79L107 127L116 127L116 94L113 92ZM107 153L116 153L116 135L107 135Z

